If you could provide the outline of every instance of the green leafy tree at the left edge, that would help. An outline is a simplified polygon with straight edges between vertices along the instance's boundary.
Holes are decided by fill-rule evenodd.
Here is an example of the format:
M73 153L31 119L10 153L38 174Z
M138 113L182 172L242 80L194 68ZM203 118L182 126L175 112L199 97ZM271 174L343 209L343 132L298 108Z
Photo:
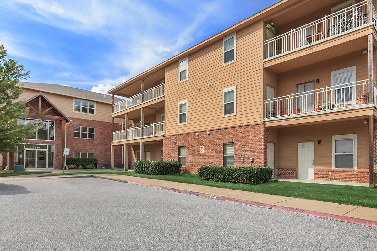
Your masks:
M16 60L7 59L4 46L0 45L0 152L15 152L23 138L35 134L35 123L18 123L29 111L25 100L20 100L23 89L19 83L28 79L29 73Z

